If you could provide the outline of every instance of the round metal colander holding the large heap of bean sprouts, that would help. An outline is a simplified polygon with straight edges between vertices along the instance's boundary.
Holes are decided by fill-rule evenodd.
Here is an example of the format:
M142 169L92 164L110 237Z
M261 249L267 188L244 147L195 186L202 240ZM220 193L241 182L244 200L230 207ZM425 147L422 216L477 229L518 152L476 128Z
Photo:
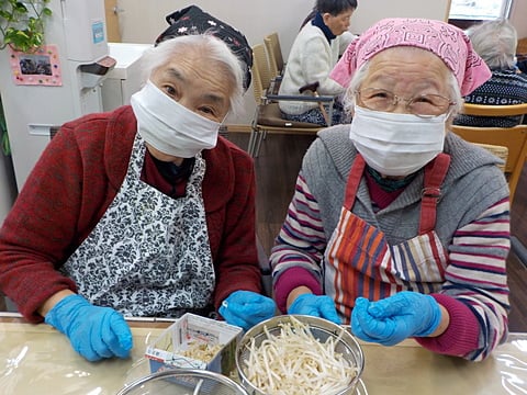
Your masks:
M280 325L291 323L291 317L294 317L302 324L307 325L311 334L321 342L325 342L328 338L334 338L337 340L340 336L340 339L335 345L335 351L341 353L346 360L350 361L354 366L357 366L358 374L350 380L346 390L334 395L356 394L359 390L358 384L365 368L365 356L359 343L348 330L344 330L343 332L341 326L323 318L304 315L282 315L272 317L254 326L244 335L236 348L236 369L242 384L247 392L251 395L266 395L262 391L249 382L244 371L246 365L245 361L249 360L250 345L253 339L255 339L255 346L259 347L261 342L268 338L267 334L265 332L265 328L267 328L267 331L270 335L279 335L282 329ZM360 385L362 385L362 383L360 383ZM302 393L302 390L312 388L299 388L299 393Z

